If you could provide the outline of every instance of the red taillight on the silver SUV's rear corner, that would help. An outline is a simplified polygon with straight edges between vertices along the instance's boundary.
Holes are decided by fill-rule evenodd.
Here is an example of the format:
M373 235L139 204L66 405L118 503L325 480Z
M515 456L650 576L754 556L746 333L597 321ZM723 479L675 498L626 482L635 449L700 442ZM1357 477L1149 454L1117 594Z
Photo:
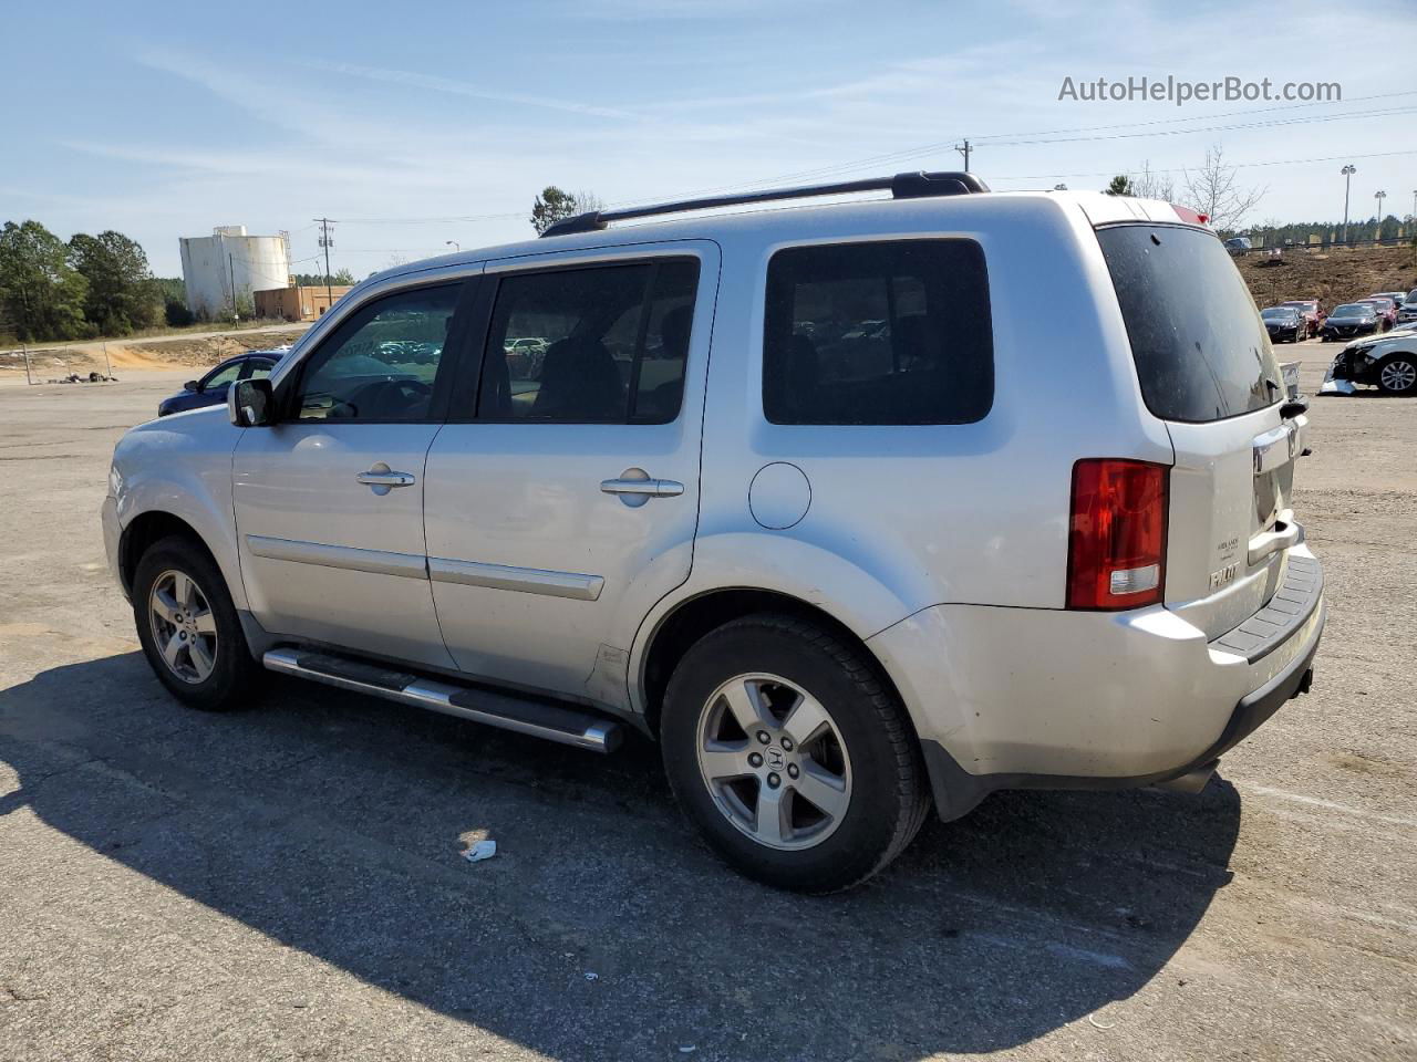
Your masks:
M1166 583L1165 464L1088 457L1073 466L1067 606L1138 609Z

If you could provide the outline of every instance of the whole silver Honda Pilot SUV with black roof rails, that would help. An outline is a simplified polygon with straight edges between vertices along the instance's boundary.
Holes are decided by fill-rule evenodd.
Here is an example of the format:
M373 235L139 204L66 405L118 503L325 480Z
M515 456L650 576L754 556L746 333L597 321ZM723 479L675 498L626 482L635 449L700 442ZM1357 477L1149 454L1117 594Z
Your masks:
M728 862L830 891L931 804L1196 790L1308 688L1305 404L1195 215L904 174L547 236L123 438L108 549L181 701L633 726Z

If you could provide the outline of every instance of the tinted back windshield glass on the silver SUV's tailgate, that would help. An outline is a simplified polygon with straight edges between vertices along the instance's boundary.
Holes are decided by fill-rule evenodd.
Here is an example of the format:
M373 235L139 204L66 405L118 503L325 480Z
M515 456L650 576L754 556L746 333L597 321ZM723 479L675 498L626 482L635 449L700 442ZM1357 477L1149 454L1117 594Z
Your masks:
M1219 239L1178 225L1111 225L1097 239L1155 416L1223 421L1284 396L1270 337Z

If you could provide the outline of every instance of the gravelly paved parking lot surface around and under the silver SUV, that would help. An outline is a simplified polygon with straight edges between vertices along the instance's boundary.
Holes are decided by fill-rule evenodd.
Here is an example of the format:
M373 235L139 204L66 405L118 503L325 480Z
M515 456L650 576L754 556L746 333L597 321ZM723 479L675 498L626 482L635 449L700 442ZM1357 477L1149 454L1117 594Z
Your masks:
M645 742L171 701L98 507L186 375L0 385L0 1059L1417 1056L1417 399L1315 401L1314 692L1202 796L998 794L803 899Z

